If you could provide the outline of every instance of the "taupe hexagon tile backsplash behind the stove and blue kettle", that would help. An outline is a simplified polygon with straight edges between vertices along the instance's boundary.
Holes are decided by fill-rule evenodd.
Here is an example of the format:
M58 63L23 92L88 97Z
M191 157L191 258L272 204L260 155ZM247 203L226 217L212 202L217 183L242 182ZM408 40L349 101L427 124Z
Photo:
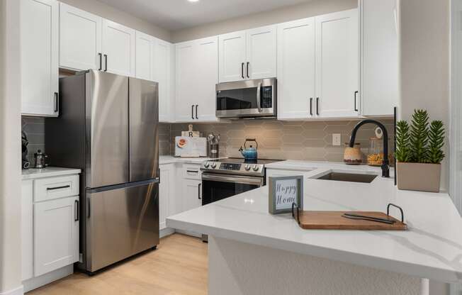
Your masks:
M245 138L255 138L261 159L312 160L339 162L343 160L344 144L349 141L356 121L232 121L227 123L193 123L201 136L220 134L220 156L242 157L239 148ZM393 135L393 120L381 120ZM358 131L356 142L368 153L369 139L376 126L367 124ZM174 138L188 130L188 123L161 124L159 128L160 155L172 155ZM170 137L167 137L168 131ZM332 134L342 135L342 145L332 145ZM169 143L167 146L167 142ZM390 140L393 143L393 140Z

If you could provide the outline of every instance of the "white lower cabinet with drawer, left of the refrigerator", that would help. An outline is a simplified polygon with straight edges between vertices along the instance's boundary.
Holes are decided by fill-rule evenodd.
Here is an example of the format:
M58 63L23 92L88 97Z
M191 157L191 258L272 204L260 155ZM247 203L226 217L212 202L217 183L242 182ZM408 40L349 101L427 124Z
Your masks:
M79 261L78 178L78 174L71 174L21 183L22 280L26 291L68 275Z

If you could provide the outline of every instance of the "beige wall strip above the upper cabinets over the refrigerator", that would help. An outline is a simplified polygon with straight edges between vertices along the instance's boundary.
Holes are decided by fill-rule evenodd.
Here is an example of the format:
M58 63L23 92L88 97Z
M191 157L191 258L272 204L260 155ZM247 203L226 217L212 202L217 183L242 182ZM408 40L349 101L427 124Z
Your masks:
M98 0L60 0L66 4L77 7L84 11L94 13L97 16L102 16L116 23L120 23L124 26L134 28L140 32L147 33L154 37L160 38L162 40L170 41L171 34L169 30L155 26L152 23L143 21L140 18L130 15L124 11L109 6Z

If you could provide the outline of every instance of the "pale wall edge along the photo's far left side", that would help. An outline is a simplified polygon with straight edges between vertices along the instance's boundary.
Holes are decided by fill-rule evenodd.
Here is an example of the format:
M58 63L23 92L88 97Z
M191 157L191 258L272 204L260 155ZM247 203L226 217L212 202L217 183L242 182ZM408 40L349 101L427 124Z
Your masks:
M0 0L0 294L21 285L19 1Z

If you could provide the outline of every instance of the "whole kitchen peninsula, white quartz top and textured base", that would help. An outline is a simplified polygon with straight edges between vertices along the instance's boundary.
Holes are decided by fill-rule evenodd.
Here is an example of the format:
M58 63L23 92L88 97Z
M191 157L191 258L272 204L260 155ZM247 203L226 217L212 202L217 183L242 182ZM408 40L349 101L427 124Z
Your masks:
M316 179L380 174L375 167L285 161L267 169L303 175L304 210L386 211L393 203L409 230L303 230L290 213L268 213L268 187L171 216L168 226L209 235L210 295L426 294L422 278L462 281L462 219L448 194L400 191L380 176L370 184Z

